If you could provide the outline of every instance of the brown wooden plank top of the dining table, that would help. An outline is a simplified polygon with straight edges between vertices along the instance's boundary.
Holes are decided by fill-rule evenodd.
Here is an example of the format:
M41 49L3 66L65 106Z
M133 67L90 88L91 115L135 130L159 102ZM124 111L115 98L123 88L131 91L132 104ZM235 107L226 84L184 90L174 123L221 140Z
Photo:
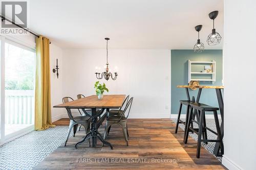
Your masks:
M98 99L97 95L91 95L72 102L53 106L55 108L120 108L124 101L125 94L104 95Z

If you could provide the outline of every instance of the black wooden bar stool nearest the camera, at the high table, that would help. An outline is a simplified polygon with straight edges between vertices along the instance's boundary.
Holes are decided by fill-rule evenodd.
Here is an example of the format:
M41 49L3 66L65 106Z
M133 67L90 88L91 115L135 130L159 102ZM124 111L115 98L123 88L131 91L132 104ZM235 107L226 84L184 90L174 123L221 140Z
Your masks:
M186 131L185 131L184 143L187 143L187 138L188 138L189 131L193 131L193 132L198 134L197 158L200 158L201 142L220 142L221 153L223 154L222 134L221 134L220 124L219 124L219 119L218 119L218 114L217 114L217 110L219 110L219 108L208 106L208 105L205 105L205 104L202 104L202 103L193 103L193 102L190 102L189 105L190 105L190 109L189 109L188 121L187 121L187 126L186 126ZM196 121L196 120L193 120L193 109L196 109L199 113L199 122ZM217 132L215 132L214 130L206 127L205 111L214 112L214 118L215 118L215 124L216 124ZM195 129L195 128L190 127L190 124L192 122L198 124L199 128ZM216 134L219 137L219 139L212 140L212 139L207 139L206 138L206 139L202 140L203 129L205 131L209 130L210 132Z

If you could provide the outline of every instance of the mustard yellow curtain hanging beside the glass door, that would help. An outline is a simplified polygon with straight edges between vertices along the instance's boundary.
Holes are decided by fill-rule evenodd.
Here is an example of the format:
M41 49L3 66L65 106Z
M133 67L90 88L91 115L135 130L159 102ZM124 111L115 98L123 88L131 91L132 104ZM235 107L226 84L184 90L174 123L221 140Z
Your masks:
M52 125L49 39L36 38L35 130Z

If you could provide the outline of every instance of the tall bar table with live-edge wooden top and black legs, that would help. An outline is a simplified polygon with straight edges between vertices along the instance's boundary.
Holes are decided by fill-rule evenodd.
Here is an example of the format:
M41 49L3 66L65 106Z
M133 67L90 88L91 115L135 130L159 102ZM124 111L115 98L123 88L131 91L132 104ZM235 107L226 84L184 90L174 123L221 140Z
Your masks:
M221 134L222 134L222 138L223 138L223 135L224 135L224 103L223 103L222 90L224 89L224 86L178 85L177 88L185 88L186 96L187 96L187 100L188 101L191 101L188 89L189 88L193 88L193 89L198 88L199 90L198 90L198 94L197 94L197 99L196 99L196 101L194 101L194 102L197 102L197 103L199 103L199 101L200 101L200 96L201 96L202 89L215 89L216 90L217 100L218 100L220 114L221 114L221 126L220 126L220 129L221 129ZM218 137L218 139L219 139L219 137ZM220 154L220 142L216 142L215 148L214 148L214 154L216 156L221 156L223 154L223 152L224 152L224 146L223 146L222 153Z

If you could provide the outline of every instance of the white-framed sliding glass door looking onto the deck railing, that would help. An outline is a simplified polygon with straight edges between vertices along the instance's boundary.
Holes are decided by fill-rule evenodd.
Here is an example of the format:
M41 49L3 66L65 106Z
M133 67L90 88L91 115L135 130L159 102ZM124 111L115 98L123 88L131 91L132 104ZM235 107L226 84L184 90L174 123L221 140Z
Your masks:
M34 128L35 50L3 37L1 42L3 143Z

